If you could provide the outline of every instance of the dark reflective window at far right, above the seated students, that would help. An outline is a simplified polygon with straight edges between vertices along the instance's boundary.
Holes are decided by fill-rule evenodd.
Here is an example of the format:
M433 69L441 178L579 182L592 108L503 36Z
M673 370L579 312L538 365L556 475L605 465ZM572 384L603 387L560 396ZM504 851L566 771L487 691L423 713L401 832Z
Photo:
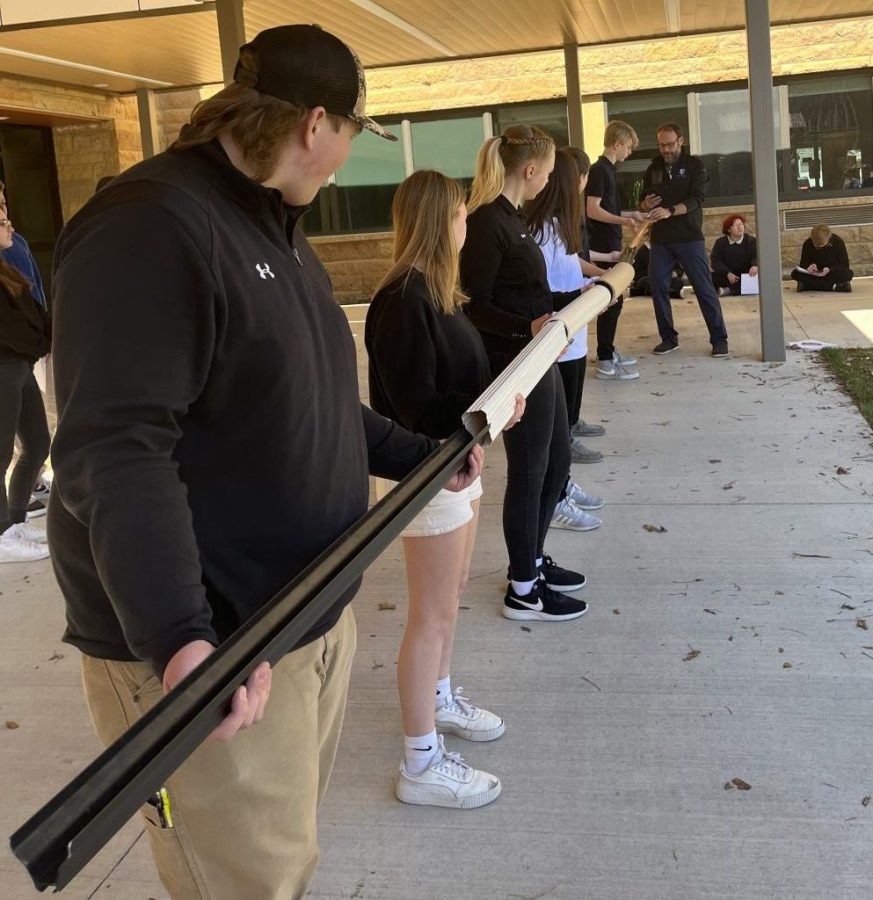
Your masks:
M858 190L873 165L873 85L869 75L788 83L790 194Z

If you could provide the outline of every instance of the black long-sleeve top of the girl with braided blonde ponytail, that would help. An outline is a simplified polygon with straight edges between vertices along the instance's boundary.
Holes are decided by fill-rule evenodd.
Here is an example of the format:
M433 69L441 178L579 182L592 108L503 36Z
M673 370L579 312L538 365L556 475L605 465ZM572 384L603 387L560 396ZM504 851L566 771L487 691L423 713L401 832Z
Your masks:
M502 194L467 219L461 250L464 311L498 375L532 339L530 323L553 312L546 262L520 210Z

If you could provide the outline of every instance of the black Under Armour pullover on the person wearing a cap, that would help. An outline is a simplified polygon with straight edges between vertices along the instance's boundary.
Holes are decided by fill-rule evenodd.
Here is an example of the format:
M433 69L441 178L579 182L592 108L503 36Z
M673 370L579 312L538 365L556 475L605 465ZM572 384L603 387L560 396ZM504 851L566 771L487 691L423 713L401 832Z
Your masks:
M220 643L366 511L368 470L436 446L361 405L301 212L213 142L129 169L61 235L49 540L87 654L160 675Z

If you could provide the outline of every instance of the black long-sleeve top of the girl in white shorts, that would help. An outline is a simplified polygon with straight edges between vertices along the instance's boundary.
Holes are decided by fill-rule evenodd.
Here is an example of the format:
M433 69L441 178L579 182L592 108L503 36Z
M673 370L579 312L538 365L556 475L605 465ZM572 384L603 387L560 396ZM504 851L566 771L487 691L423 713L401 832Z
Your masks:
M447 438L491 381L482 338L461 310L436 308L412 269L376 293L364 344L370 405L410 431Z

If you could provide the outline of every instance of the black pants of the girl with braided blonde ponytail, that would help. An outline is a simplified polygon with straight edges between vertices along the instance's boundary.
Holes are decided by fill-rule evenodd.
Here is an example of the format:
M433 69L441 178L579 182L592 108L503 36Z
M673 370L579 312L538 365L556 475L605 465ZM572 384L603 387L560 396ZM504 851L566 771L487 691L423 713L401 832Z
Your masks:
M557 363L527 398L524 416L503 432L506 495L503 536L510 575L516 581L537 577L546 532L570 471L570 427Z

